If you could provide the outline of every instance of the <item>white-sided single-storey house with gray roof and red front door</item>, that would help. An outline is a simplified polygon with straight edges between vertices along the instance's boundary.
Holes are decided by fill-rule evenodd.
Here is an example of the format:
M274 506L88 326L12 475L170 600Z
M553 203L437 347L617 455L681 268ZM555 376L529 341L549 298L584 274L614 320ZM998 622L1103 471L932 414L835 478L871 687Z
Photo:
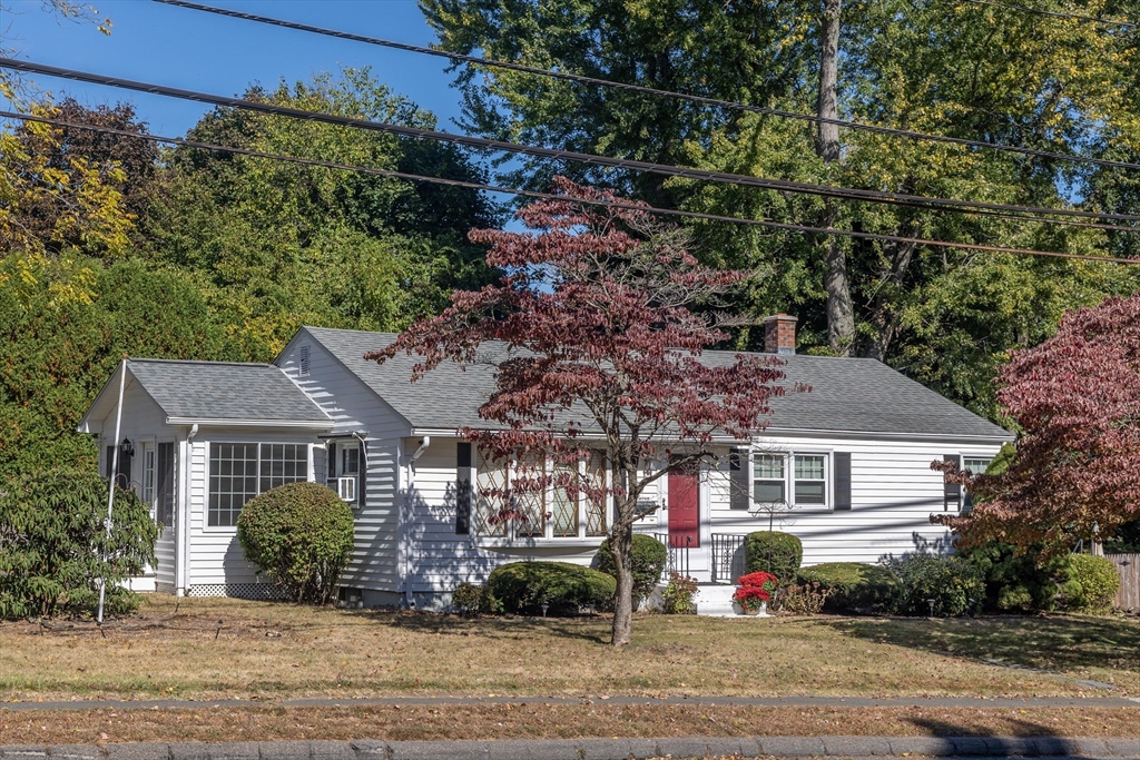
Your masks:
M109 447L132 453L121 457L120 477L164 526L157 566L137 588L272 594L242 556L236 520L247 499L299 480L328 483L353 505L356 551L342 579L350 602L434 606L504 562L589 563L609 505L551 492L522 506L526 522L488 520L495 507L480 487L510 473L481 463L456 430L480 425L492 368L447 365L410 383L414 359L364 359L393 338L303 327L272 365L127 361L120 440L117 373L79 430L99 436L108 476ZM944 485L930 461L978 472L1012 436L881 362L793 346L795 318L769 318L767 349L787 360L785 382L812 391L774 399L752 446L725 440L719 461L660 479L649 497L659 509L637 530L657 534L673 566L705 583L731 583L743 536L769 520L803 540L805 565L946 550L948 534L929 516L968 509L969 497ZM580 466L606 476L601 456ZM775 515L768 505L780 505Z

